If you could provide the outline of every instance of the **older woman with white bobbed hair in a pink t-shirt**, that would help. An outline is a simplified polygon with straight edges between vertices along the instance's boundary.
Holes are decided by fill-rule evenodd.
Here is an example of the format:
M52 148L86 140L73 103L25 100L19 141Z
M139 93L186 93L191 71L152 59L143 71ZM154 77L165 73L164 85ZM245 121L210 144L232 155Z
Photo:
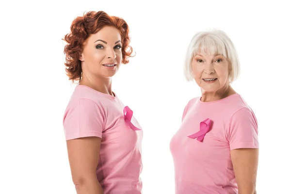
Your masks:
M176 194L256 193L258 123L230 86L239 67L236 49L225 32L194 35L184 72L202 94L186 105L170 143Z

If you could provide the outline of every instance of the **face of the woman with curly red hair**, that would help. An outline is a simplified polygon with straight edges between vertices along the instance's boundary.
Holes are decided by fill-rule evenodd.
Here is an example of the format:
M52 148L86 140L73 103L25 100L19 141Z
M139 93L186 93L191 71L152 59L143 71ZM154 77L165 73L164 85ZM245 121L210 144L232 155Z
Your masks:
M121 35L111 26L105 26L91 34L81 53L82 75L89 77L112 77L121 60Z

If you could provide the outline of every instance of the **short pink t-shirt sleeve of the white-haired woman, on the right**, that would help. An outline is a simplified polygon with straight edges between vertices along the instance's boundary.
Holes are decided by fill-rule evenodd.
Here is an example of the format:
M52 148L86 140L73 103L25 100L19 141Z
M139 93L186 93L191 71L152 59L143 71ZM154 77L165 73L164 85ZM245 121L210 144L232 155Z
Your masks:
M245 107L232 115L226 127L226 138L230 150L259 148L258 123L252 110Z

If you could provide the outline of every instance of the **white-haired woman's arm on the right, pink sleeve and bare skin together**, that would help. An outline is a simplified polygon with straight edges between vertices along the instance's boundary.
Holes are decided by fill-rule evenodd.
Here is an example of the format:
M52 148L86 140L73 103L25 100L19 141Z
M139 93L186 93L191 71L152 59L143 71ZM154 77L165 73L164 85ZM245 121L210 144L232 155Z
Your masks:
M239 194L253 194L259 160L258 123L254 113L248 108L234 113L226 134Z

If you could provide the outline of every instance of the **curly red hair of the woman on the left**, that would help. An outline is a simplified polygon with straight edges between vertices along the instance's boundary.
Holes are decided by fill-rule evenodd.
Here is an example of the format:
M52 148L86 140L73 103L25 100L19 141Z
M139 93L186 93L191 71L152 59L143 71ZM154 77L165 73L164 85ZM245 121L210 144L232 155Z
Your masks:
M129 63L129 57L132 57L133 52L129 46L129 26L126 21L120 17L109 16L103 11L90 11L83 16L75 18L70 27L70 33L66 34L63 40L67 43L65 45L65 71L66 75L71 81L81 81L82 68L80 53L83 51L83 44L86 39L94 33L97 33L105 26L115 27L121 35L122 43L122 63Z

